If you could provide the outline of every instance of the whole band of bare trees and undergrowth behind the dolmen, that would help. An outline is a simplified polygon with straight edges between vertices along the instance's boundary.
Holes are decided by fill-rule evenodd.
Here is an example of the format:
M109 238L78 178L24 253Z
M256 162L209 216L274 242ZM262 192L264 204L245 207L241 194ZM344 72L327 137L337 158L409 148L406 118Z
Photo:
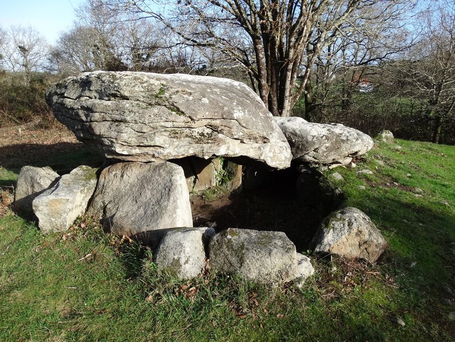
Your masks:
M44 88L82 71L180 72L243 81L273 115L455 143L451 0L87 0L76 16L54 45L0 27L1 124L48 112Z

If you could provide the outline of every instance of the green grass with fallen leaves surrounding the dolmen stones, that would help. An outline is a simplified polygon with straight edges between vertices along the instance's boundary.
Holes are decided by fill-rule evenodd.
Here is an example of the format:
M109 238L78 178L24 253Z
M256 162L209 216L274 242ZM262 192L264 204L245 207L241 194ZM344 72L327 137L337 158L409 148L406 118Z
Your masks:
M374 174L356 174L364 168ZM1 185L18 169L1 168ZM209 273L179 282L156 270L150 250L104 235L90 217L42 236L5 215L0 341L453 341L445 286L455 291L455 148L396 140L356 169L333 171L348 205L368 214L390 247L376 265L299 251L317 271L302 290Z

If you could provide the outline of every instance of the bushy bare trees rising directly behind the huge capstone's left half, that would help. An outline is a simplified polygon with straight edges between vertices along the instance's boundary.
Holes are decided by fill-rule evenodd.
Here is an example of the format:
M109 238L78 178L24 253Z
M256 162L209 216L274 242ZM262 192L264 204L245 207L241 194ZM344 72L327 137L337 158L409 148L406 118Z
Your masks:
M88 0L77 10L78 21L64 32L52 51L57 71L154 71L163 64L162 35L157 25L131 13L112 11L102 0Z

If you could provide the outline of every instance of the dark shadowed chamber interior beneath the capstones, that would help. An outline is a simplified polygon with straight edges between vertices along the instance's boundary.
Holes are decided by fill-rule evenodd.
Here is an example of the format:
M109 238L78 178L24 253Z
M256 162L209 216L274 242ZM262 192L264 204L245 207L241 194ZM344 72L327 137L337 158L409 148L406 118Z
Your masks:
M264 172L263 181L257 189L221 193L215 200L191 195L194 226L216 222L217 232L227 228L280 231L294 242L297 252L307 250L321 220L342 198L324 184L320 174L301 174L295 168L260 172Z

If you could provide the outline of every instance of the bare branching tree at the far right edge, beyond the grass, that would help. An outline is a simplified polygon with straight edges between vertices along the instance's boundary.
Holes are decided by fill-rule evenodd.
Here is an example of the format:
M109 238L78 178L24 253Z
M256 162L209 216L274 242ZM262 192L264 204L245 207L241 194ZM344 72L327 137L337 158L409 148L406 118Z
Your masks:
M455 3L430 3L415 23L420 41L405 60L391 65L391 74L403 93L419 100L434 121L433 142L438 143L444 121L455 107Z

